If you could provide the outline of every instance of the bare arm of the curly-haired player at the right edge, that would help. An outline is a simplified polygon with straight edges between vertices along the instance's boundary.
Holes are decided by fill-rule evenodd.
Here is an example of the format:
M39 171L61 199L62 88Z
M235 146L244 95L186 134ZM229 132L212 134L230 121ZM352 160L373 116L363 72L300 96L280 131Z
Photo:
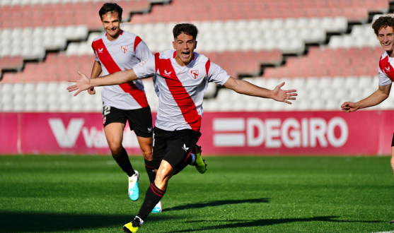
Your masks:
M364 109L366 107L372 107L386 100L388 95L390 95L391 84L389 85L380 85L379 89L376 92L373 92L372 95L366 97L364 100L360 100L359 102L344 102L341 105L343 112L354 112L358 109Z

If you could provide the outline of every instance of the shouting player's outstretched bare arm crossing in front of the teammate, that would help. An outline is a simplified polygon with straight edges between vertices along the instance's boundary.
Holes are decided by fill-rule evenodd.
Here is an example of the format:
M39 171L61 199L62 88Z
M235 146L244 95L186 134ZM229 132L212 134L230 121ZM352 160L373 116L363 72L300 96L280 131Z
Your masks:
M88 78L86 75L78 71L79 76L81 76L80 79L71 79L68 80L71 83L76 83L75 85L71 85L67 88L69 92L72 92L76 90L77 92L74 94L74 96L78 95L79 92L83 90L88 90L89 88L92 87L98 87L98 86L103 86L103 85L120 85L122 83L127 83L132 80L137 80L137 76L134 73L133 70L127 70L127 71L118 71L115 73L111 73L108 76L103 76L100 78Z

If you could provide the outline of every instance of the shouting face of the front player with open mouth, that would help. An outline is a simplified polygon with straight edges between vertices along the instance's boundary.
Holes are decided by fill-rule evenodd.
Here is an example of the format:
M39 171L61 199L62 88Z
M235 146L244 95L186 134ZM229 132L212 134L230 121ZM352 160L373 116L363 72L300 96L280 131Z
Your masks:
M193 59L193 52L197 47L197 41L193 39L192 35L180 33L173 42L174 49L176 50L175 60L180 66L190 64Z

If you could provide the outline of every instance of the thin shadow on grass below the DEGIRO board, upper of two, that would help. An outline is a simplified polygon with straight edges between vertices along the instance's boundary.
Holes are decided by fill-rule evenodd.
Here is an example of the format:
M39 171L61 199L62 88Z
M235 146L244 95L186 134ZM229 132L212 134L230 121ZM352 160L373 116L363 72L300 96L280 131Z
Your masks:
M193 203L187 205L179 205L173 208L165 208L163 211L173 211L173 210L188 210L188 209L197 209L204 208L208 206L219 206L219 205L233 205L233 204L241 204L241 203L268 203L270 202L269 198L256 198L256 199L246 199L246 200L223 200L223 201L210 201L207 203Z

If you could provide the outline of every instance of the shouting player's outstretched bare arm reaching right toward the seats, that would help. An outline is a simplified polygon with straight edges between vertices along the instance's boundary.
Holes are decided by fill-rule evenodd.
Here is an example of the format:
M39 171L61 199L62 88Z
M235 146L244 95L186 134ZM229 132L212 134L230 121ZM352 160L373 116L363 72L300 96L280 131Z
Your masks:
M268 90L266 88L260 88L257 85L248 83L244 80L238 80L236 78L228 78L224 87L234 90L240 94L257 96L262 98L270 98L279 102L285 102L291 104L288 100L296 100L296 90L282 90L284 83L277 85L274 90Z

